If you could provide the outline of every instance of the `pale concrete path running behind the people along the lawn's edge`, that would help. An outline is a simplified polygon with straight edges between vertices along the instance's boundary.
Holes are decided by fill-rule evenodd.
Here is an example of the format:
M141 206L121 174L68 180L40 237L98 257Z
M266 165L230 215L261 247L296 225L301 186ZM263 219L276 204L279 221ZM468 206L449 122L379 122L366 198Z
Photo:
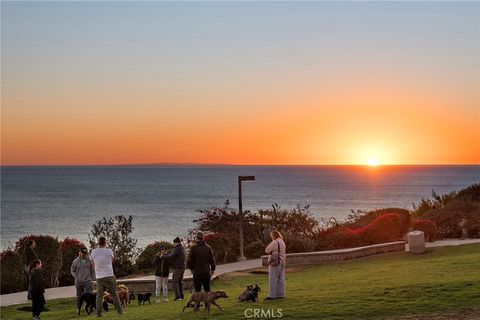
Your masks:
M442 247L442 246L457 246L462 244L470 244L470 243L480 243L480 239L466 239L466 240L439 240L435 242L428 242L426 243L426 247ZM405 250L408 251L408 244L405 245ZM262 266L261 259L253 259L253 260L246 260L241 262L233 262L227 264L218 265L217 270L215 272L216 276L230 273L234 271L242 271L242 270L249 270L254 268L259 268ZM185 278L191 277L191 273L189 270L185 271ZM171 277L171 275L170 275ZM154 280L154 276L144 276L131 279L134 280ZM129 279L130 280L130 279ZM126 280L128 281L128 280ZM59 287L59 288L51 288L45 290L45 299L52 300L52 299L60 299L60 298L71 298L75 297L75 286L69 287ZM18 293L11 293L11 294L4 294L0 295L0 306L10 306L15 304L23 304L23 303L30 303L27 300L27 292L18 292Z

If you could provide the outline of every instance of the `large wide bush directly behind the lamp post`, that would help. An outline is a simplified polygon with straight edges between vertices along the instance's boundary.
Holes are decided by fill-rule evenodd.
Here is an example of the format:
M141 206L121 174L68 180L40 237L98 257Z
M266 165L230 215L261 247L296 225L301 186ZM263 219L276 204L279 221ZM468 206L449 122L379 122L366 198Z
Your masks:
M258 257L264 254L270 243L270 232L279 230L285 237L287 251L302 252L312 250L318 221L310 214L308 206L297 206L292 210L281 209L273 205L273 210L260 210L258 213L244 212L243 235L244 254L246 257ZM215 258L220 263L236 261L239 255L239 214L230 208L227 200L221 208L200 210L200 217L193 222L196 228L187 236L188 246L194 243L195 233L202 230L210 237L207 241L212 246ZM308 238L308 239L307 239Z

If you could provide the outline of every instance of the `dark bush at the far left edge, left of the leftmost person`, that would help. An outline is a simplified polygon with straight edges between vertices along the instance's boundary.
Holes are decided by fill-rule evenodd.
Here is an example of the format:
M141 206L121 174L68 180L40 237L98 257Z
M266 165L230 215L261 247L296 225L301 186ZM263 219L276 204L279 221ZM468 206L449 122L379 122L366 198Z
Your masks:
M0 254L1 294L25 290L23 258L18 252L8 249Z

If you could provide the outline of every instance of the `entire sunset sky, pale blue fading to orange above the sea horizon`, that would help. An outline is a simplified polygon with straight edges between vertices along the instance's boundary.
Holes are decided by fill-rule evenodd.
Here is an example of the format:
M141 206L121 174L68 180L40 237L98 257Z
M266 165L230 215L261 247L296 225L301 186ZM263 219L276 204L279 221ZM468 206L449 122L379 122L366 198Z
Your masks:
M6 2L2 165L479 164L479 2Z

